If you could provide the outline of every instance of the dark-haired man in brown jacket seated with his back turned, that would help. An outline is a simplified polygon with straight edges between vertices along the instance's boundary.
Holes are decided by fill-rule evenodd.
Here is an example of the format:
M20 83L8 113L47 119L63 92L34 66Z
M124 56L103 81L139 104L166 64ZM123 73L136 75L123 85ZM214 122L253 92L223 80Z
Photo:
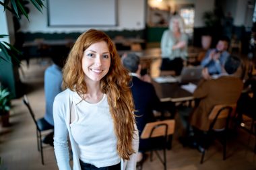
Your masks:
M187 137L192 137L196 130L207 131L210 127L210 121L208 116L214 105L223 103L236 103L243 90L243 82L236 77L236 71L241 65L240 58L236 56L230 56L226 60L224 65L225 73L222 73L218 79L212 79L205 70L203 70L203 79L197 85L193 96L198 100L198 105L195 106L193 112L187 115L181 115L181 119L185 120L186 116L189 116L189 122L187 122ZM189 124L190 123L190 124ZM216 122L216 128L221 125ZM191 139L191 138L190 138ZM183 138L183 141L187 142L183 144L192 144L187 138Z

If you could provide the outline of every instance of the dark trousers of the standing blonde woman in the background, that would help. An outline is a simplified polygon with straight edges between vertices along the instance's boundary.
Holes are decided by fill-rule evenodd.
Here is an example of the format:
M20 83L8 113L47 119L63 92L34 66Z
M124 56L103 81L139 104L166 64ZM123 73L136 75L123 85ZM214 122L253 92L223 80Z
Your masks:
M182 69L182 58L174 58L173 60L170 60L169 58L162 58L162 65L160 67L161 71L175 71L176 75L181 75Z

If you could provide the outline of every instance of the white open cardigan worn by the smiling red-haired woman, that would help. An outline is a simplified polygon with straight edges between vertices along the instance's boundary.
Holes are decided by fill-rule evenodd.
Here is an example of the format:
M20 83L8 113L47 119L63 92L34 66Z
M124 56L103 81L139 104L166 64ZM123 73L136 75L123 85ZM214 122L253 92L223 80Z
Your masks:
M79 164L79 147L73 138L70 128L71 105L72 103L76 105L78 102L81 101L81 99L79 101L75 100L75 94L76 92L73 92L70 89L66 89L55 97L55 101L53 104L53 118L55 122L55 156L57 159L58 167L61 170L71 169L71 166L69 164L69 149L67 144L68 135L73 153L73 169L81 169ZM101 124L98 124L98 126L101 126ZM130 156L129 161L121 159L121 170L135 169L138 146L139 137L137 133L137 127L135 125L135 133L133 135L133 149L136 153Z

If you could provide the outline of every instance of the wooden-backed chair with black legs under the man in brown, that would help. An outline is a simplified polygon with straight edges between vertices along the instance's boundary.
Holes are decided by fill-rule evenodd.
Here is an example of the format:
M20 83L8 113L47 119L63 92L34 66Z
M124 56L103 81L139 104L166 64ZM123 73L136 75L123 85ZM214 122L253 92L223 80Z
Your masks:
M212 109L208 119L211 121L209 130L203 135L202 142L202 155L200 163L203 163L203 159L205 156L206 148L210 145L210 139L212 139L213 134L220 134L220 140L223 145L223 160L226 159L226 136L230 123L230 118L234 116L236 110L236 103L232 104L219 104L215 105ZM216 125L217 120L224 120L223 128L216 129L214 126ZM225 121L226 120L226 121Z

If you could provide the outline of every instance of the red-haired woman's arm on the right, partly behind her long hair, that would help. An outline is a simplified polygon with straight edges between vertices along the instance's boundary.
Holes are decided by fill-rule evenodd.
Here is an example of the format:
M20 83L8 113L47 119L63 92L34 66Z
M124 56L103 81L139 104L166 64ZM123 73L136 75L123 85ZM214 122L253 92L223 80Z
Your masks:
M130 156L130 160L127 161L127 165L125 170L134 170L136 169L136 163L137 163L137 153L139 151L139 132L137 130L136 124L134 124L135 131L133 133L133 150L135 153L133 153Z

